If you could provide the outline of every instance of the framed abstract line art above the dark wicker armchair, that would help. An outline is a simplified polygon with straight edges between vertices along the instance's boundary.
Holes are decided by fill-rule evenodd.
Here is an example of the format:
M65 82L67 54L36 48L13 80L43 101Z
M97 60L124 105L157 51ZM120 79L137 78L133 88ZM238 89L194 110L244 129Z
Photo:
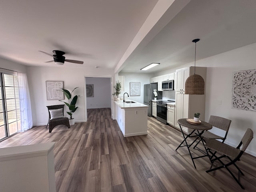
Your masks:
M63 89L63 81L46 81L47 100L63 100L64 93L60 89Z

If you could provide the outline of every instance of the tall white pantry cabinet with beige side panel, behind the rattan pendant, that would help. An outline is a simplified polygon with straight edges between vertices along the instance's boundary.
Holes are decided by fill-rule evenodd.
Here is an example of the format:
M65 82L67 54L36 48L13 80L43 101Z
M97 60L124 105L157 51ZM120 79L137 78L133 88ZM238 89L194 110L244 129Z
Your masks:
M176 88L175 94L175 127L180 130L180 125L177 123L179 119L194 117L194 113L200 113L200 120L204 121L204 112L205 112L205 95L189 95L184 92L184 84L186 78L194 74L194 67L182 68L176 70L176 82L177 87L180 86L180 89L183 91L178 91ZM202 76L204 82L206 82L206 67L196 67L196 74ZM181 86L182 85L182 86ZM191 130L188 130L186 127L182 127L182 130L185 133L190 133Z

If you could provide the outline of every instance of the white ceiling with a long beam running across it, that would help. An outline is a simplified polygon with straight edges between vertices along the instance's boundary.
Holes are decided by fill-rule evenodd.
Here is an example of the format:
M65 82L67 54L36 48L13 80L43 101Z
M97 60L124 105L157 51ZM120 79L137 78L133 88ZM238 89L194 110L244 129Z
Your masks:
M153 73L256 42L255 0L8 0L0 6L0 57L27 66ZM42 52L47 52L44 54Z

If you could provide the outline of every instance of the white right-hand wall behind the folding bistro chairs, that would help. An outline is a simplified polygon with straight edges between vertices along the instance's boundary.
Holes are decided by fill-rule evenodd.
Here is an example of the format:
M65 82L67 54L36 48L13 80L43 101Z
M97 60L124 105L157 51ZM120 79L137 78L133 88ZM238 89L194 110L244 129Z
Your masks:
M210 115L232 120L226 139L226 143L232 146L239 144L247 128L251 128L256 137L256 112L232 109L231 101L232 73L239 70L255 69L255 50L256 43L196 61L196 66L207 67L205 120L208 121ZM194 62L178 68L187 66L194 66ZM154 76L175 72L178 68L159 72ZM256 156L255 138L246 152Z

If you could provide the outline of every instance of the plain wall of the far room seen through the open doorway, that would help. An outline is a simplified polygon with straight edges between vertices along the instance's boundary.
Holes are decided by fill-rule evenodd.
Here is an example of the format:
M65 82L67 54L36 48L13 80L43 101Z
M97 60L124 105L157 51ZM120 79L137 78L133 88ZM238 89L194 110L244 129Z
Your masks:
M87 97L87 108L111 108L111 78L86 77L86 84L93 84L94 97Z

